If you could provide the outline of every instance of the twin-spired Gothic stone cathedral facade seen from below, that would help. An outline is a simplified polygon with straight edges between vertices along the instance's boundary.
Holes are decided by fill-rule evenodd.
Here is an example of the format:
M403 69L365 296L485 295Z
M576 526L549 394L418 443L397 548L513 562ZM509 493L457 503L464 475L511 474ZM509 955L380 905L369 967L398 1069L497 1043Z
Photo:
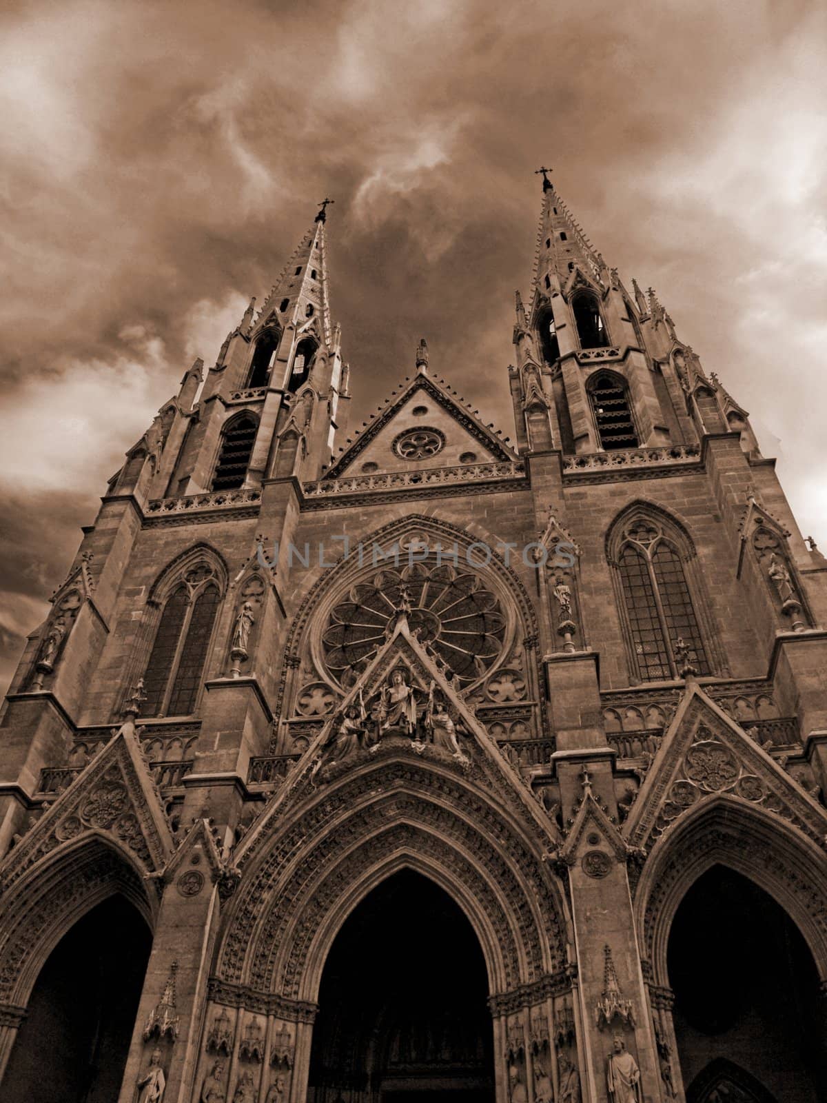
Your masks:
M3 1103L827 1099L827 560L546 171L514 427L425 341L348 427L325 201L112 475L2 714Z

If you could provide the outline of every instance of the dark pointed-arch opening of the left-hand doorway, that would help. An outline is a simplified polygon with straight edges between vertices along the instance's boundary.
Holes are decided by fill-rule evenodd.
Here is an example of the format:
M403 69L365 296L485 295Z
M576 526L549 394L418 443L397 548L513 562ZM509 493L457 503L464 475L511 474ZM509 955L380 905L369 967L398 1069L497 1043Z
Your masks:
M4 1103L118 1097L151 943L121 896L71 928L32 989L0 1089Z

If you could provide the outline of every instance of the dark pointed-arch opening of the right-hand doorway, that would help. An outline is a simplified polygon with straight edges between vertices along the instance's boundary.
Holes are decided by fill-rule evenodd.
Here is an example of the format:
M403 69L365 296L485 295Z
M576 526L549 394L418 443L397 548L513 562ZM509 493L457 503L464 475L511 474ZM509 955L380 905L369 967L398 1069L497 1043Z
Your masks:
M827 1097L815 964L769 893L712 866L675 913L667 968L687 1103Z

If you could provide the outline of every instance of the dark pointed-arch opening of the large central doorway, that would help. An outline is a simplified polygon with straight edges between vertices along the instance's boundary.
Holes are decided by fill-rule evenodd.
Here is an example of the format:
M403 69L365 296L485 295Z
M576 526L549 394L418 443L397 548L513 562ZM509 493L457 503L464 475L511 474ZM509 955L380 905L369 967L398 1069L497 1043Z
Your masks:
M453 900L404 870L348 915L319 989L312 1103L493 1103L487 977Z

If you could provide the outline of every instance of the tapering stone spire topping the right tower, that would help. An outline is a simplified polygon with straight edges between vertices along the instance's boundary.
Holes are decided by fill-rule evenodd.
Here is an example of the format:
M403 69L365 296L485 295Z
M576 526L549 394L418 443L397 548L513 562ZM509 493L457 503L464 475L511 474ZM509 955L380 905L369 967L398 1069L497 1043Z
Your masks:
M546 168L536 170L543 173L543 207L537 231L534 290L547 295L555 283L563 287L576 268L601 285L603 274L609 271L605 261L555 190L548 179L550 171Z

